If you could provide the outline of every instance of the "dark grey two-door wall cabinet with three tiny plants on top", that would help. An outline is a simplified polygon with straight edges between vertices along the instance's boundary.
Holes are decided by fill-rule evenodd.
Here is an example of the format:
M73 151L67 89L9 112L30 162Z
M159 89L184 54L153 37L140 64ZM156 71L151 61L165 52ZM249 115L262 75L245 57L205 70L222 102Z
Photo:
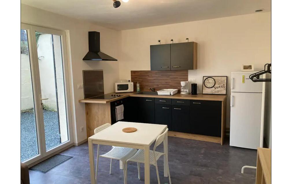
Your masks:
M151 70L197 69L197 43L150 45Z

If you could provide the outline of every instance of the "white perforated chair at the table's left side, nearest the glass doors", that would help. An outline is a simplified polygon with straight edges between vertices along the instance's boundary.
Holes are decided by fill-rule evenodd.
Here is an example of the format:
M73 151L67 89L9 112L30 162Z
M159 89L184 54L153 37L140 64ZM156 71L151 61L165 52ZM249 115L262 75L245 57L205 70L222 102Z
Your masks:
M94 133L99 133L100 131L108 128L111 126L110 123L106 123L102 126L99 126L98 128L94 129ZM124 178L124 183L126 183L126 170L125 170L125 163L126 160L130 157L132 157L135 153L137 152L136 149L132 148L125 148L125 147L118 147L118 146L112 146L112 149L102 155L99 155L99 145L98 145L98 153L96 156L96 176L98 173L98 165L99 165L99 157L104 157L104 158L110 158L110 174L111 174L111 167L112 167L112 159L120 160L123 163L123 178Z

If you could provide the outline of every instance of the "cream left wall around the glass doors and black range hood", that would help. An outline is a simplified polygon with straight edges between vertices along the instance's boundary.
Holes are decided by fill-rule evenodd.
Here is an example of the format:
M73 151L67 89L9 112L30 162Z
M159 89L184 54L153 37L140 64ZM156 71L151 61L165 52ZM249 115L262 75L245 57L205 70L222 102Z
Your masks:
M101 33L101 50L108 55L119 57L120 34L118 31L100 27L86 21L68 18L41 9L21 4L21 22L39 25L59 30L65 30L67 35L67 51L69 72L71 109L73 124L73 141L75 143L86 139L85 106L78 100L83 99L83 89L77 89L77 84L83 83L82 70L103 69L105 93L113 92L114 82L119 79L120 61L83 61L88 51L88 31ZM84 131L80 132L80 127Z

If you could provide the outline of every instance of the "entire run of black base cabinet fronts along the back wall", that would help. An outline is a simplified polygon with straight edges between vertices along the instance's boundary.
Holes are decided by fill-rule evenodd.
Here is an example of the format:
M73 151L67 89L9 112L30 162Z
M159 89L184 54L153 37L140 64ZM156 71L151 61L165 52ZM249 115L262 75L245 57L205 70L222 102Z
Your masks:
M122 121L163 124L170 131L221 137L221 101L149 97L122 101Z

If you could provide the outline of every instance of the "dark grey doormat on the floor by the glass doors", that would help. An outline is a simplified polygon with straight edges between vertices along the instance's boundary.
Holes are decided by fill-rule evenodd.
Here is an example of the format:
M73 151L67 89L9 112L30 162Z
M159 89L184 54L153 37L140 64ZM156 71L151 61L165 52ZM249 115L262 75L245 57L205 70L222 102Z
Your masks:
M60 164L66 162L71 158L73 157L56 154L50 157L49 159L46 159L43 162L40 162L39 164L34 165L33 167L30 168L30 170L46 173L52 170L54 167L59 166Z

